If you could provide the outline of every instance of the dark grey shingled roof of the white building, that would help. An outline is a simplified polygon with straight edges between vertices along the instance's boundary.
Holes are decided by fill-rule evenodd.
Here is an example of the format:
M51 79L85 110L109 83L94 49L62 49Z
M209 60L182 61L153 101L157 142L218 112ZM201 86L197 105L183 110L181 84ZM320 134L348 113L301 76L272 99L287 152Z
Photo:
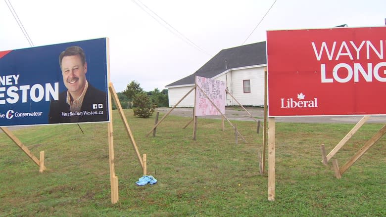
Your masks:
M212 57L195 73L173 82L166 87L194 84L195 76L213 78L228 69L267 63L266 43L251 43L242 46L223 49Z

